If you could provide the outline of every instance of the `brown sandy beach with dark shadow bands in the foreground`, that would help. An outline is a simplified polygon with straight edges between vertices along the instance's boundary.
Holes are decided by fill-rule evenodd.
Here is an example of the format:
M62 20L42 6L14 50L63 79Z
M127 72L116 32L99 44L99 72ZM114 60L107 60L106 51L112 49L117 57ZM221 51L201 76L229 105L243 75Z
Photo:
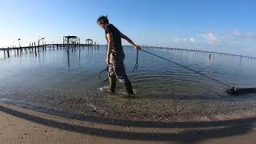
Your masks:
M1 143L255 143L256 118L218 122L124 122L63 118L0 104ZM103 118L104 120L104 118Z

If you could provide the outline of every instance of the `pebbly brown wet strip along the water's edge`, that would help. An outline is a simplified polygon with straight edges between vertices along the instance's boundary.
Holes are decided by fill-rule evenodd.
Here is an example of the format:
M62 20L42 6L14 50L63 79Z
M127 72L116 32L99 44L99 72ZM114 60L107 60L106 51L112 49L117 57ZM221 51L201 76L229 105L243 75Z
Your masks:
M34 94L32 94L34 95ZM171 98L122 98L120 94L99 93L95 96L84 90L54 90L31 97L22 94L21 101L2 100L46 114L77 114L98 118L115 118L146 122L209 122L249 118L256 115L256 102L222 100L180 100ZM194 98L194 97L192 97Z

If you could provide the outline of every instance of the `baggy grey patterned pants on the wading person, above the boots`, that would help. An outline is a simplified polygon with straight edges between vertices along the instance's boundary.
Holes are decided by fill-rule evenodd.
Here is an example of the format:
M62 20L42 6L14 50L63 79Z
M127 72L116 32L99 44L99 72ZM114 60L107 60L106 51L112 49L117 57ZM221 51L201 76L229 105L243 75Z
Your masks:
M119 82L127 83L130 80L126 75L126 68L123 63L124 59L125 54L123 51L110 53L109 77L117 78Z

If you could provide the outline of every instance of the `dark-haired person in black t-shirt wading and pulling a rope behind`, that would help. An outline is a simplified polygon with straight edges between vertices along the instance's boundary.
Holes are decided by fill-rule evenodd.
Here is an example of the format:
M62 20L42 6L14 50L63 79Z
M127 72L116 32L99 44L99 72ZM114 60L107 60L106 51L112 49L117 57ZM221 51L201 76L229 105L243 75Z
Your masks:
M114 94L117 79L125 86L128 97L134 98L134 91L131 86L130 80L126 75L125 65L123 63L125 54L122 50L121 38L126 39L136 49L141 50L140 46L136 45L130 38L122 34L115 26L109 23L107 16L101 16L98 18L97 23L101 28L105 30L106 41L108 48L106 52L106 64L109 66L109 78L110 78L110 94Z

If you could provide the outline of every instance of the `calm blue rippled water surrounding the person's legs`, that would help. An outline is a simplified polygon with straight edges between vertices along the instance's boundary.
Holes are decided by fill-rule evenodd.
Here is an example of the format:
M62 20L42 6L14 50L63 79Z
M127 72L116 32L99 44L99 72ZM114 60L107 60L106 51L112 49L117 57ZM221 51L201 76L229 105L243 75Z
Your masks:
M142 48L183 66L188 66L210 77L236 87L256 87L256 60L231 57L224 54L206 54L182 50ZM3 58L0 54L0 100L30 103L34 106L52 107L77 114L86 110L108 114L114 106L154 105L154 102L254 102L256 94L230 96L229 87L205 78L181 66L139 52L138 70L134 73L136 50L124 46L126 73L132 82L136 100L122 98L126 95L121 83L115 95L106 93L106 73L98 78L99 71L106 68L106 46L99 50L80 48L70 50L40 51L14 54ZM1 52L2 53L2 52ZM125 104L124 104L125 105ZM157 108L156 108L157 109ZM138 110L138 109L136 109ZM89 112L88 112L89 113ZM101 115L100 114L100 115Z

